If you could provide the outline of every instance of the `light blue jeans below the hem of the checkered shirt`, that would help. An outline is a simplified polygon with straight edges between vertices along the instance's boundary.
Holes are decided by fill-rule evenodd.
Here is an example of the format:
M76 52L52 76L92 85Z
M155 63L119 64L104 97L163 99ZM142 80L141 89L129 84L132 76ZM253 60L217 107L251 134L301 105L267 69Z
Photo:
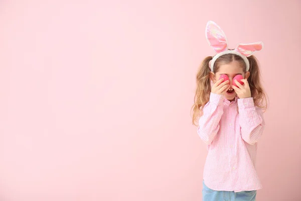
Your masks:
M255 201L256 190L216 191L208 188L203 181L203 201Z

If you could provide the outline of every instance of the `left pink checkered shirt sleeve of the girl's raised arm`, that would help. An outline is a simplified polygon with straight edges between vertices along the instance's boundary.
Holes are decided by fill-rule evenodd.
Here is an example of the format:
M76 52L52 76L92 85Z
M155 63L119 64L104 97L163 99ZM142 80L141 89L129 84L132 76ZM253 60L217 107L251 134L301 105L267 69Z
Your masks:
M210 93L209 102L203 108L203 115L199 120L198 134L201 139L210 145L219 131L219 122L224 113L224 95Z

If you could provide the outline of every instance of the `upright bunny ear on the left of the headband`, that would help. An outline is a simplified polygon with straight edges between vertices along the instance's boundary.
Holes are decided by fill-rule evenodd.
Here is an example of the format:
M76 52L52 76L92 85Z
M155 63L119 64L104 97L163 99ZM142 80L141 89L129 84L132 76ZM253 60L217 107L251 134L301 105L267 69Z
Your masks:
M228 42L223 30L213 21L206 25L206 39L216 53L228 49Z

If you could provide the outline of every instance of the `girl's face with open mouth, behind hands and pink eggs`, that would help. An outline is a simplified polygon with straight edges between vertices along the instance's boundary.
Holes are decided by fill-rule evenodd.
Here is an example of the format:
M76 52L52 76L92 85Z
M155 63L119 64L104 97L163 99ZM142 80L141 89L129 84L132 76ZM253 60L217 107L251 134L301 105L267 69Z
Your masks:
M236 96L236 92L232 88L233 78L236 75L240 74L243 76L244 79L247 79L250 76L250 72L243 72L243 68L239 65L239 63L237 61L232 61L231 63L228 63L228 64L221 64L219 66L218 72L216 72L216 73L211 72L210 78L215 83L222 74L225 74L229 77L230 88L225 93L225 97L228 100L233 101Z

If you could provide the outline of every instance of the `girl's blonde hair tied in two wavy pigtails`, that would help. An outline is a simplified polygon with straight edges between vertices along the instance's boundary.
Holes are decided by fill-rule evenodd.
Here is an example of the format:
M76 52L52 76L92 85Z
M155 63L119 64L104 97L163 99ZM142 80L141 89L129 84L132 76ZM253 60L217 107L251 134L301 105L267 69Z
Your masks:
M248 82L251 89L251 94L254 100L254 105L256 107L262 108L262 110L267 109L267 96L263 91L260 82L260 70L258 60L255 56L247 57L250 63L250 76ZM212 57L206 57L201 66L198 69L197 73L197 88L196 94L194 97L194 105L192 107L192 123L197 125L198 118L203 114L203 107L209 102L210 92L211 92L211 80L210 80L210 68L209 62L212 60ZM213 72L218 72L220 64L228 64L232 61L237 61L243 68L243 71L246 72L246 65L243 59L234 54L225 54L220 56L214 63Z

